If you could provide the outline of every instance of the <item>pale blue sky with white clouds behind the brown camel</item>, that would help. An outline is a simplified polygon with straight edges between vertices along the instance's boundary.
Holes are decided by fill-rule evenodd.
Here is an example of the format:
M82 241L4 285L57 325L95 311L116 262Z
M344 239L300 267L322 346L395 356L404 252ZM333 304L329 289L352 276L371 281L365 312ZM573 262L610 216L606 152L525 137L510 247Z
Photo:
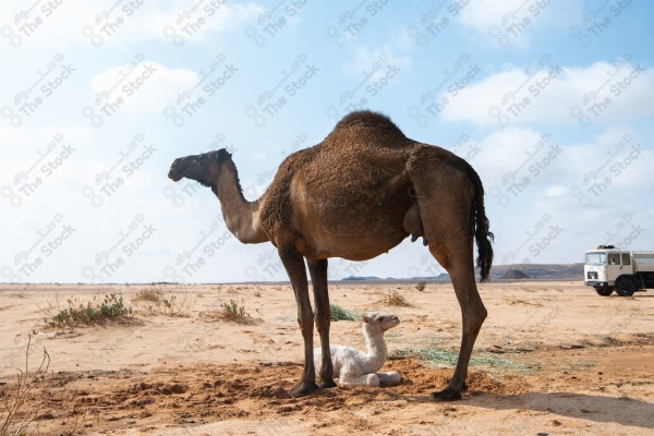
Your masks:
M496 264L654 250L650 1L3 1L0 281L280 280L208 189L228 147L254 199L343 114L467 158ZM330 277L434 276L419 243Z

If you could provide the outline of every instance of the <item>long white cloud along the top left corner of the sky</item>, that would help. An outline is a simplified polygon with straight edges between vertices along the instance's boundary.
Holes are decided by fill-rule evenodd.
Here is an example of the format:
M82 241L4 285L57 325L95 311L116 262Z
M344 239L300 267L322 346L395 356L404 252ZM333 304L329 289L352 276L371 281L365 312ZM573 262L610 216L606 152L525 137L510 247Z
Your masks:
M58 8L48 2L37 4L27 17L26 4L0 3L0 25L9 26L21 47L62 48L92 44L96 47L148 39L183 38L183 44L198 43L216 33L229 32L254 20L263 9L255 3L231 4L185 1L64 1ZM112 9L113 5L117 5ZM196 9L194 7L198 5ZM41 24L32 27L37 19ZM170 26L170 27L168 27ZM168 32L165 29L168 28Z

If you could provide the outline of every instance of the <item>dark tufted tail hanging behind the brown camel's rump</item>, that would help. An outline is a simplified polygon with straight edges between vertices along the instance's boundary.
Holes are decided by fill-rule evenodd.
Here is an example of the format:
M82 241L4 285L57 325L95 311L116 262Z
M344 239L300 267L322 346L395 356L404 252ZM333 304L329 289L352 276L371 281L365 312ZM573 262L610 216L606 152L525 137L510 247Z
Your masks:
M494 234L488 229L489 222L484 208L484 186L480 175L470 165L467 166L468 177L474 183L474 201L472 204L472 222L474 239L477 244L477 267L480 268L482 281L488 279L491 267L493 266L493 245Z

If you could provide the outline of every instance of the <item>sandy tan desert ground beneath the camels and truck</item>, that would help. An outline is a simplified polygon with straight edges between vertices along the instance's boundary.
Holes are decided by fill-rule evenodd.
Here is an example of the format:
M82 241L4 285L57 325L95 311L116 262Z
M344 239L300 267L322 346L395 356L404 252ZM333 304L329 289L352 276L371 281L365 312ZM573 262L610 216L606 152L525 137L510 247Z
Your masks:
M452 373L460 311L450 284L332 283L331 303L391 312L386 368L397 386L288 391L301 372L302 338L288 284L157 286L185 316L143 310L123 323L46 326L41 308L152 286L0 286L0 396L17 370L48 375L29 395L40 434L117 435L651 435L654 434L654 291L602 298L580 282L480 287L489 316L475 346L469 390L434 402ZM399 291L411 306L382 300ZM216 316L234 300L251 317ZM363 348L358 322L335 322L332 343ZM427 359L433 356L435 359ZM438 358L438 359L436 359ZM0 423L1 424L1 423Z

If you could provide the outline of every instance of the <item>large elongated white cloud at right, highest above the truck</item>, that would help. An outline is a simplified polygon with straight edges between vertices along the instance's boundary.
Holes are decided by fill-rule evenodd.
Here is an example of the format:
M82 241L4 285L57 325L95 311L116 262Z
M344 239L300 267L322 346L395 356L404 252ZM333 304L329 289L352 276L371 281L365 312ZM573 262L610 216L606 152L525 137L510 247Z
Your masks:
M654 69L630 62L560 66L556 60L523 71L509 68L448 96L446 121L483 126L544 122L620 122L651 116Z

